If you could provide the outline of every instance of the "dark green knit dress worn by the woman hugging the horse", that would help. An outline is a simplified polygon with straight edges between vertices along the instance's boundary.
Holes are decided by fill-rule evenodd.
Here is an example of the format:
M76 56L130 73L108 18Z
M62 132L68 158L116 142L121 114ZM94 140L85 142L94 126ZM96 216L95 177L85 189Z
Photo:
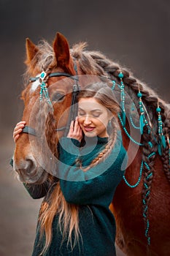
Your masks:
M109 204L117 185L123 178L126 151L120 135L109 157L88 171L77 166L77 157L81 159L82 167L98 156L108 142L107 138L88 138L88 143L80 150L78 140L61 138L58 164L58 176L63 196L68 203L79 206L79 227L81 237L79 243L71 249L67 239L62 241L58 228L58 214L53 220L53 238L44 256L115 256L115 218L109 210ZM122 166L124 159L124 167ZM122 170L123 169L123 170ZM34 186L34 185L33 185ZM28 187L28 192L34 198L40 197L36 189ZM43 195L42 195L43 196ZM74 234L72 235L74 240ZM39 239L39 224L36 229L36 240L32 256L42 252L45 240Z

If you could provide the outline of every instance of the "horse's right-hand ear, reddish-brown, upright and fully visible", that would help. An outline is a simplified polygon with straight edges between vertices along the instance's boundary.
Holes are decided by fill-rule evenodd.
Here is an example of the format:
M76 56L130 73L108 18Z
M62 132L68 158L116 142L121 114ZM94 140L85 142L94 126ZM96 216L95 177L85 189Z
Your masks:
M69 52L69 42L61 33L57 33L53 42L53 50L58 67L72 72L73 63Z

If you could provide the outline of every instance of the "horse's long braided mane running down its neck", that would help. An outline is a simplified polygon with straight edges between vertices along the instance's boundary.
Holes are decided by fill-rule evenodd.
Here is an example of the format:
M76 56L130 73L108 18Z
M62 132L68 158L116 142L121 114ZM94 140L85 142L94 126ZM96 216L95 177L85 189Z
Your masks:
M169 171L169 133L170 133L170 110L169 105L166 104L158 95L150 89L145 83L134 78L128 69L120 67L119 64L107 59L102 53L98 51L85 50L85 43L74 45L71 53L74 59L79 62L82 72L85 74L95 74L105 76L110 80L114 80L115 83L120 84L119 74L123 73L123 84L125 86L125 92L133 99L136 108L139 110L139 98L137 97L138 92L142 93L142 102L146 108L147 115L150 119L150 129L148 132L147 126L144 127L142 134L142 161L143 166L143 189L142 189L142 208L143 208L143 219L145 236L147 237L147 245L150 245L150 231L149 231L149 206L152 190L152 181L154 179L155 160L161 158L162 167L167 180L170 182L170 171ZM162 132L166 137L166 147L162 148L161 157L158 155L158 113L156 109L158 106L161 108L161 121L162 121ZM128 103L125 108L128 108ZM150 142L150 143L148 143ZM150 146L152 145L152 146ZM123 245L121 241L117 241L120 248ZM147 246L148 250L148 246ZM130 252L131 254L131 252Z

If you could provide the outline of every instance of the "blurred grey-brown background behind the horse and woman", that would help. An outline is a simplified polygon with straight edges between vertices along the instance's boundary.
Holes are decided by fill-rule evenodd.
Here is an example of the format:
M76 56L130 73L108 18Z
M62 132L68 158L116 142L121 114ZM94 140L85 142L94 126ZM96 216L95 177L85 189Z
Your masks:
M60 31L71 46L87 41L169 102L170 1L0 0L0 28L0 255L29 256L41 200L28 196L9 167L23 111L26 37L52 42Z

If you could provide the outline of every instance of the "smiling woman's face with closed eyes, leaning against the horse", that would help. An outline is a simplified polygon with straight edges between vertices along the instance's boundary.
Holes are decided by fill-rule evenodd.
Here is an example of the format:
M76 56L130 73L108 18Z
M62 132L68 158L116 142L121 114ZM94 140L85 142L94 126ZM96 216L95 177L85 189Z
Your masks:
M111 114L94 98L81 98L78 102L78 121L87 137L108 137L107 124Z

